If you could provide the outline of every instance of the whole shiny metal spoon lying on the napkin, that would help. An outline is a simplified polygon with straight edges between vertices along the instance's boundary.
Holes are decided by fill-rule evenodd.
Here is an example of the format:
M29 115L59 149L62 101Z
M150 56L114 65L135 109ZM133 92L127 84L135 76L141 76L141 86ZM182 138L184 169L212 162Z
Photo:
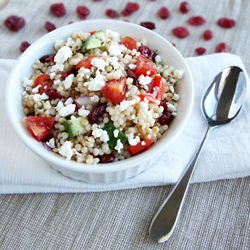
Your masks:
M240 112L246 95L246 77L241 68L225 68L213 80L202 98L201 108L208 127L201 145L177 184L155 214L149 235L162 243L172 235L202 146L211 128L226 124Z

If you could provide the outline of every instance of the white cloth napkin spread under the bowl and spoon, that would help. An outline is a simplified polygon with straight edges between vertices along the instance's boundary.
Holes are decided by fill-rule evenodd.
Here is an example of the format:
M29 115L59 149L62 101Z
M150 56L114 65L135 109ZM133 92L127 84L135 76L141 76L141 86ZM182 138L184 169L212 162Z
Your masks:
M229 65L244 68L239 57L214 54L186 59L195 83L195 104L191 118L155 165L142 174L119 184L93 185L67 178L33 154L16 136L6 117L4 87L14 60L0 60L0 193L99 192L175 183L206 130L200 100L213 77ZM249 88L248 88L249 89ZM212 130L204 145L192 182L239 178L250 175L249 94L236 120Z

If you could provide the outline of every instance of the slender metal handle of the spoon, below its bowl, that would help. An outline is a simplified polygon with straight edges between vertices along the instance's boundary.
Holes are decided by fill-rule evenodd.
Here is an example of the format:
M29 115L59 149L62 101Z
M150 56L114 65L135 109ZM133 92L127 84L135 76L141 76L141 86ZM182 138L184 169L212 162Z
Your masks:
M209 130L210 127L208 126L201 145L193 159L190 161L189 165L174 186L173 190L170 192L155 214L149 227L149 235L153 241L162 243L168 240L173 233L189 187L190 179Z

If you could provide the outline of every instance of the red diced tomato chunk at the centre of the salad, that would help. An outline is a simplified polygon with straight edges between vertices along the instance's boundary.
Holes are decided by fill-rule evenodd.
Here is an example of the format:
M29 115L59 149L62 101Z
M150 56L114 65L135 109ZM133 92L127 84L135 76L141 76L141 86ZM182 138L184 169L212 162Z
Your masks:
M126 97L126 77L110 80L102 88L102 93L113 103L120 104Z

